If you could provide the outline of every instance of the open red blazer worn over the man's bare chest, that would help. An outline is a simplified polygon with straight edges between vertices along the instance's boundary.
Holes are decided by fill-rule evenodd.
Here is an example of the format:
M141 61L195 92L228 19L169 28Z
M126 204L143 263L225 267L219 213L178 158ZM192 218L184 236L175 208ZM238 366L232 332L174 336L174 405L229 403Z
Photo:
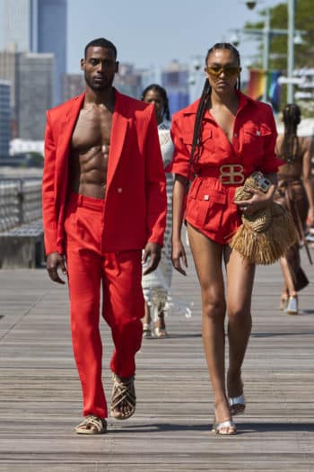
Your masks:
M162 245L166 187L153 106L115 90L104 209L106 252ZM47 112L42 183L46 253L63 254L68 162L85 94Z

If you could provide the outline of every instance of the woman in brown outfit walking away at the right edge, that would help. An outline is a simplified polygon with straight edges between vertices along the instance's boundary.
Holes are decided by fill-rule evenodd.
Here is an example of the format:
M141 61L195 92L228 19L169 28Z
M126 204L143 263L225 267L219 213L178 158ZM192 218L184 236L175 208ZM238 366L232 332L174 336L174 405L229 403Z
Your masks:
M277 138L275 150L284 164L279 167L275 201L292 213L299 240L280 259L284 283L279 308L288 315L297 315L298 292L309 284L301 268L300 246L306 244L306 224L314 225L313 140L298 137L301 110L295 103L285 105L282 120L284 131Z

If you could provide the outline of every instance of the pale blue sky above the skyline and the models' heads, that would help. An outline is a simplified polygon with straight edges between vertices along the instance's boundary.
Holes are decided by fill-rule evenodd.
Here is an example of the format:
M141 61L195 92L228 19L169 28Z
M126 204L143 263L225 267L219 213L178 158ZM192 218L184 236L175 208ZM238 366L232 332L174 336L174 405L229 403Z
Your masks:
M214 42L230 40L232 29L257 22L258 11L282 2L257 0L249 10L244 0L68 0L68 72L80 71L85 45L98 37L111 40L118 60L136 68L158 70L173 59L192 65L200 58L203 65ZM257 41L243 34L238 49L246 69Z

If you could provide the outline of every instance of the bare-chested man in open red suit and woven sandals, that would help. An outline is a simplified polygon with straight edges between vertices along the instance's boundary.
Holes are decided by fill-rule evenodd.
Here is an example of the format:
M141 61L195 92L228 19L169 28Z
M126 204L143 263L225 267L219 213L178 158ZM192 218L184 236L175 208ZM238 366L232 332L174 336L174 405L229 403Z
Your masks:
M48 274L67 274L74 358L83 388L75 431L106 432L102 316L115 349L111 414L135 412L135 353L142 340L145 273L156 269L166 217L165 177L152 105L119 94L117 49L92 40L81 61L86 91L47 113L42 184Z

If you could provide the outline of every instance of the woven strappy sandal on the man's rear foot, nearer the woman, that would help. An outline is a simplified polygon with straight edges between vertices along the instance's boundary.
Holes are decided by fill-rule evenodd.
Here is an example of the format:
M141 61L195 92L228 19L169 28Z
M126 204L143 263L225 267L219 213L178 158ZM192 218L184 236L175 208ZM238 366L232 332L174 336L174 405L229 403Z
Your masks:
M135 377L122 380L116 374L113 374L113 387L111 396L111 415L117 420L126 420L135 413ZM128 406L128 412L123 413L124 405Z

